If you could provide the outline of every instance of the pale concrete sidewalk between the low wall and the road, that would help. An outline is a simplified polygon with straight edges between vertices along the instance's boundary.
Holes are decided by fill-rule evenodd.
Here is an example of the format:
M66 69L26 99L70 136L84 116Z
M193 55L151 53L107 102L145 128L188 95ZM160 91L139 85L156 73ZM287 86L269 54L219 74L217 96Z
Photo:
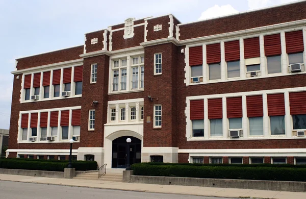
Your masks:
M79 180L79 179L57 179L42 178L32 176L17 176L0 174L0 180L28 182L40 184L78 186L100 189L118 189L125 191L141 191L155 193L173 193L199 196L216 197L252 197L252 198L278 198L278 199L305 199L306 192L286 192L286 191L266 191L254 189L234 189L234 188L215 188L215 187L195 187L195 186L176 186L176 185L156 185L156 184L136 184L109 182L101 180Z

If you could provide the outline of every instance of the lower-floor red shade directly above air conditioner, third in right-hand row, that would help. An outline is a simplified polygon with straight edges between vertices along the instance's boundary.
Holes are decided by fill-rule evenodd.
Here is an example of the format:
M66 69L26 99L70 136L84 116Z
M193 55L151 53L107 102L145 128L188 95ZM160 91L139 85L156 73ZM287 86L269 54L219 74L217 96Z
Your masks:
M227 118L242 117L242 97L227 97L226 113Z

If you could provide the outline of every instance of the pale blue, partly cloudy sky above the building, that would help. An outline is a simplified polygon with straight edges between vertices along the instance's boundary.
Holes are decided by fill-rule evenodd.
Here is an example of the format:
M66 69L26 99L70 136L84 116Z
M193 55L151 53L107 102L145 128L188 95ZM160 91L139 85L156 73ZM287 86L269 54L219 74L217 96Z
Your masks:
M0 0L0 129L9 129L15 59L84 44L84 34L136 19L173 14L182 23L291 0Z

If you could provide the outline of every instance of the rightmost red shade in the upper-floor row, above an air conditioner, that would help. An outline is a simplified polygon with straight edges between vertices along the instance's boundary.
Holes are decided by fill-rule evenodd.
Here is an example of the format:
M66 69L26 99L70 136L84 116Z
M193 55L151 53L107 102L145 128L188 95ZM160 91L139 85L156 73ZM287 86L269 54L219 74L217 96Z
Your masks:
M286 37L286 52L300 53L304 51L303 32L293 31L285 33Z

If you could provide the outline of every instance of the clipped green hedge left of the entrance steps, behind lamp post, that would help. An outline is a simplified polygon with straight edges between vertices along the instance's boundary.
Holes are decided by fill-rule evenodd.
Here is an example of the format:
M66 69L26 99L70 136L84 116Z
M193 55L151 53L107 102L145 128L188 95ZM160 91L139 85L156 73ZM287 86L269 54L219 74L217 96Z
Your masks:
M64 168L67 166L68 161L66 160L36 160L19 158L0 159L0 168L64 171ZM72 161L72 167L75 168L75 170L96 170L97 162Z

